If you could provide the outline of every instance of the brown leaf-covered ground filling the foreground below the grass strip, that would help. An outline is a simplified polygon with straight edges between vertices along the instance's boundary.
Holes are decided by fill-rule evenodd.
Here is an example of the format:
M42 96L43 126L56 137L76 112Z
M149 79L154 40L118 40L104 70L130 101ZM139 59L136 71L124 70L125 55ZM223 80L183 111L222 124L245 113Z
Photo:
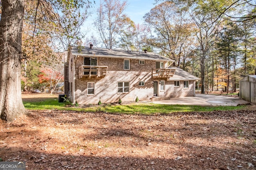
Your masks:
M29 111L0 121L0 158L26 170L256 169L255 107L123 115Z

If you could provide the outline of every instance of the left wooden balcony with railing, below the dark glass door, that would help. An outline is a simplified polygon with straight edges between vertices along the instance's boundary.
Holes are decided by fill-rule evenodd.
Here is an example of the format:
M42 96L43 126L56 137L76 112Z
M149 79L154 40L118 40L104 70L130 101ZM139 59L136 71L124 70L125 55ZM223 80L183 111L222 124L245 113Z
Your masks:
M79 66L78 77L104 77L107 74L108 66Z

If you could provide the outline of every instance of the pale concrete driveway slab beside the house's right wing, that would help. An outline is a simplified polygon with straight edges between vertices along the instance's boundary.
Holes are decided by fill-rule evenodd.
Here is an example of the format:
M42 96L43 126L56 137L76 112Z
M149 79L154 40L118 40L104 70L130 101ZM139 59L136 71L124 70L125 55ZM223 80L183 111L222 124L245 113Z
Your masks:
M250 104L250 102L247 102L240 98L214 94L196 94L196 96L192 97L171 98L170 100L153 101L153 103L199 106L237 106L243 104Z

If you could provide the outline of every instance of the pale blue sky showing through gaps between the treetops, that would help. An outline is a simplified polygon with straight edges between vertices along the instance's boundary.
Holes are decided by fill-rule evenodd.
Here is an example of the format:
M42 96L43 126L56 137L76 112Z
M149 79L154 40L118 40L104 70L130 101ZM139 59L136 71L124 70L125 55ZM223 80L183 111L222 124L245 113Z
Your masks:
M120 0L122 2L122 0ZM134 23L143 23L143 16L150 12L152 8L154 8L154 0L127 0L127 8L124 11L124 14L127 14ZM92 33L95 33L93 30L93 22L96 18L96 12L98 6L100 5L100 0L95 0L95 4L92 7L92 16L89 16L84 26L82 28L83 31L88 30L87 35L90 36Z

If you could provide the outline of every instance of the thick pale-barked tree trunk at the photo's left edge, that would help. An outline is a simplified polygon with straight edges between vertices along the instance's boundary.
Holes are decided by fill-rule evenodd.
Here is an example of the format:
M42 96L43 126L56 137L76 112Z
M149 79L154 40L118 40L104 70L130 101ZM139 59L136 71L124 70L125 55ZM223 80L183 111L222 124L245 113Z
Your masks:
M26 113L21 98L21 37L24 0L2 0L0 20L0 118Z

